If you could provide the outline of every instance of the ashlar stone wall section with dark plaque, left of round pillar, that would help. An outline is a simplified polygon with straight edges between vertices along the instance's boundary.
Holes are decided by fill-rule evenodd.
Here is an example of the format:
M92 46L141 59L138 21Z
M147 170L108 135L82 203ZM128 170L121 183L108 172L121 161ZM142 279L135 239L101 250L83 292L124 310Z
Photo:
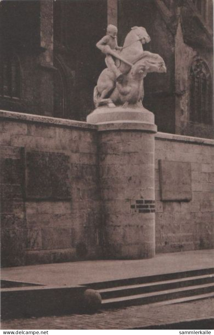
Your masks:
M99 257L96 127L1 113L2 265Z

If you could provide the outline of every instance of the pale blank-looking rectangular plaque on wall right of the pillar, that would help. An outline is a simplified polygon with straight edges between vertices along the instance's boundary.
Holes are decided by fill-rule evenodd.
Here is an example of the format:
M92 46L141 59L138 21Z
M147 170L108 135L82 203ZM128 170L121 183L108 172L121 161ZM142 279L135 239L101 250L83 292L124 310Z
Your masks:
M159 159L160 195L162 201L192 199L191 163Z

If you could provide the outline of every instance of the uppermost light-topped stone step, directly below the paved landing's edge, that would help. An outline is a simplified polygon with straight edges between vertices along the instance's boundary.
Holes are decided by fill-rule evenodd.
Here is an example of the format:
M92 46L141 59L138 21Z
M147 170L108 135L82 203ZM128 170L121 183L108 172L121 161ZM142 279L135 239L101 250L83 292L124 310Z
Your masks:
M213 283L213 281L214 281L214 275L211 274L211 275L188 277L188 279L180 278L180 279L164 280L155 283L111 287L106 289L99 289L97 291L101 294L102 299L110 299L120 296L157 292L166 289L173 289L192 285L208 284Z

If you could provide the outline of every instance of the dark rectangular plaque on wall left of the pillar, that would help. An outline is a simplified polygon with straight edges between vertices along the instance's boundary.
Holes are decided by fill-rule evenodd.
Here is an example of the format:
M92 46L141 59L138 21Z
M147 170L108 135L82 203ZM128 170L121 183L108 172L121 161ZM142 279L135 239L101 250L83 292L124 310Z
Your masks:
M26 151L25 193L29 199L70 199L70 157L58 152Z

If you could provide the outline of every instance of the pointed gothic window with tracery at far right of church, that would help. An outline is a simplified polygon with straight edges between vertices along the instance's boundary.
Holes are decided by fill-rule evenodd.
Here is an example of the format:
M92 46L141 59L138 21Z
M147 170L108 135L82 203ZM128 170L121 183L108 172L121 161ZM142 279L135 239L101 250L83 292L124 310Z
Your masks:
M212 122L212 82L207 64L196 60L190 70L190 121Z

